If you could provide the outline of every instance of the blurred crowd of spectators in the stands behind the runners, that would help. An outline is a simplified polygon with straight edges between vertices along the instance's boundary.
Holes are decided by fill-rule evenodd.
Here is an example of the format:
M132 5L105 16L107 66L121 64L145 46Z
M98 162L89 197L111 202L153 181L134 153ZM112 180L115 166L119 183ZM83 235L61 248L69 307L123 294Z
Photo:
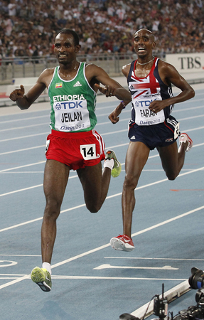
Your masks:
M82 54L132 53L148 28L156 52L204 52L203 0L0 0L0 57L53 55L62 28L80 36Z

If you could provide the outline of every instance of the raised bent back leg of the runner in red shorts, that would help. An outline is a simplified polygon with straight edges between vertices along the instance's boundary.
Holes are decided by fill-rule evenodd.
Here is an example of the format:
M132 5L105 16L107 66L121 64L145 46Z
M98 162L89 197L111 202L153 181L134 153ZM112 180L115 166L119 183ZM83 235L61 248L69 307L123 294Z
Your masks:
M102 172L100 162L95 166L85 166L84 169L78 169L77 174L82 183L87 209L96 213L102 207L107 196L111 169L104 168Z

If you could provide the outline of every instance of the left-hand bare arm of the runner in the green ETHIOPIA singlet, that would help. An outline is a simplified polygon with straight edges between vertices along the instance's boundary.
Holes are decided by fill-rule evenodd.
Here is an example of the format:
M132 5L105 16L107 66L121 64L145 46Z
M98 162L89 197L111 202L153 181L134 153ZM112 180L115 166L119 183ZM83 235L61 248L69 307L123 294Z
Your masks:
M31 89L24 95L24 87L21 85L20 89L11 92L10 99L16 101L16 104L21 110L28 109L33 102L41 95L46 87L50 84L53 77L54 68L45 69L39 76L37 82Z

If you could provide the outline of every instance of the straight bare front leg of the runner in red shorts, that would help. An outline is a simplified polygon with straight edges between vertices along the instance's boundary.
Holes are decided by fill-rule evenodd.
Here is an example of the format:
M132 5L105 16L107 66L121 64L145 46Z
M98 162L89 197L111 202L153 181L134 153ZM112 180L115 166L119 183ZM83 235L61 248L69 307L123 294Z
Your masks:
M41 228L41 250L43 262L50 263L56 237L56 220L60 214L70 167L55 160L47 160L44 173L46 199Z

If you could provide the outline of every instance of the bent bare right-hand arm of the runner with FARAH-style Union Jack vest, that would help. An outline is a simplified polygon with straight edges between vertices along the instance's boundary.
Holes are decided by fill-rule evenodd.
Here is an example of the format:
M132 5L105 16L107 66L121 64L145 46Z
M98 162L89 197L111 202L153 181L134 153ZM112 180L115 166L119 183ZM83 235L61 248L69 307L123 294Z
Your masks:
M159 60L158 70L161 80L166 85L170 85L172 83L173 85L181 89L181 93L179 93L179 95L176 95L176 97L171 97L161 101L155 100L154 102L151 102L151 104L149 105L149 110L159 112L168 105L183 102L194 97L195 92L193 90L193 87L190 87L190 85L188 85L188 82L178 73L173 65Z

